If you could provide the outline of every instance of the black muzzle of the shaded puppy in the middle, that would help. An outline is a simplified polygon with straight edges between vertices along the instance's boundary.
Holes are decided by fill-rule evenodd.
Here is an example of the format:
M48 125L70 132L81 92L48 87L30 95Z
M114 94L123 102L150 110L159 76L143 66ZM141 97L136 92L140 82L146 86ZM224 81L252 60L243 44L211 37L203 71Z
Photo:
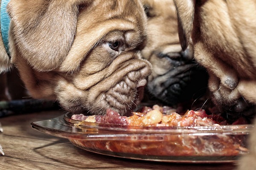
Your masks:
M195 100L207 90L207 72L195 64L176 67L148 82L148 91L161 102L177 105Z

